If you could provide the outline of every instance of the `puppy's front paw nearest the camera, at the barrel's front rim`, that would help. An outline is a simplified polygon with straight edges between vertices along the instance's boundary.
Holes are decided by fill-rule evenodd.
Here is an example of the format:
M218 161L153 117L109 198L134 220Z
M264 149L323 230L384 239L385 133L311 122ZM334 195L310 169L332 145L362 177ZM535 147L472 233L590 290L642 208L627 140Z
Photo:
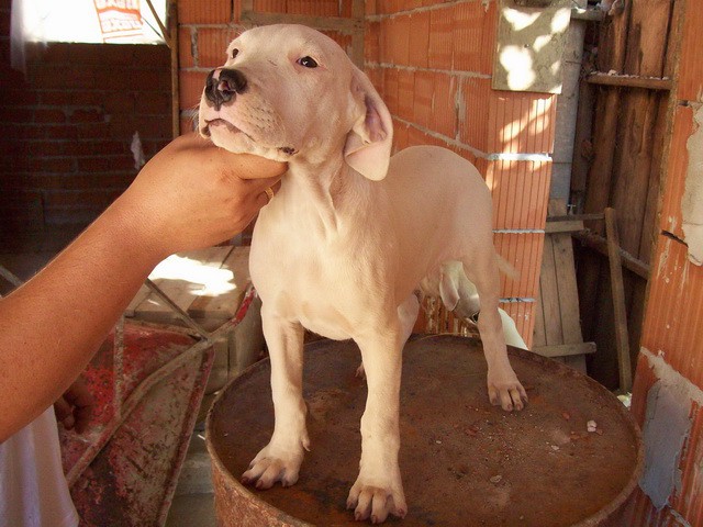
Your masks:
M382 524L389 514L404 518L408 513L405 495L400 484L365 483L359 475L349 491L347 508L354 509L354 519L372 524Z

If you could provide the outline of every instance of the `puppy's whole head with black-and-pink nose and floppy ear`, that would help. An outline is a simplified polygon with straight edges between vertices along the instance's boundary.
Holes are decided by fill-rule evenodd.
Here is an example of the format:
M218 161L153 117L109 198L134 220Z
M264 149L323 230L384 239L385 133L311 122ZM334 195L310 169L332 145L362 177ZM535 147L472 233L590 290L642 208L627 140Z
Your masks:
M230 44L208 77L199 131L227 150L281 161L343 155L373 180L386 176L392 142L390 113L366 75L301 25L256 27Z

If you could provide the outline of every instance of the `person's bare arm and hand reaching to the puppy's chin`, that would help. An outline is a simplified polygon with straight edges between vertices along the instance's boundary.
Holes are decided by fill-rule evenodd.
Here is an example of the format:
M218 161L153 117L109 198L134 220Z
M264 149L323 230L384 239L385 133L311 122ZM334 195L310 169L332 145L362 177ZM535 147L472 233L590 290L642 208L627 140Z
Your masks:
M72 244L0 299L0 442L59 399L156 264L241 232L284 167L180 137Z

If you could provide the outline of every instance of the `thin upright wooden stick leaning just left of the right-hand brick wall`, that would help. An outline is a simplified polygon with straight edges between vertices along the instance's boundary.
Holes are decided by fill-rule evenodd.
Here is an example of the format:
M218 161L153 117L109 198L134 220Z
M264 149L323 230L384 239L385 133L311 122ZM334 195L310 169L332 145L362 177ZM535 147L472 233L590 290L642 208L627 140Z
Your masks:
M605 228L607 232L611 290L615 311L615 344L617 347L617 366L620 369L620 389L629 392L633 388L633 373L629 359L629 337L627 333L627 313L625 312L623 268L620 261L620 240L614 209L605 209Z

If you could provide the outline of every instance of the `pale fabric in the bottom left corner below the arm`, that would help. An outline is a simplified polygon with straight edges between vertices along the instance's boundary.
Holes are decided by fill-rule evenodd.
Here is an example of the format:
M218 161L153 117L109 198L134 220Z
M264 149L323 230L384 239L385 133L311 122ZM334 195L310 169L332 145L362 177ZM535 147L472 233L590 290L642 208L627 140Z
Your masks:
M54 407L0 444L0 527L76 527Z

